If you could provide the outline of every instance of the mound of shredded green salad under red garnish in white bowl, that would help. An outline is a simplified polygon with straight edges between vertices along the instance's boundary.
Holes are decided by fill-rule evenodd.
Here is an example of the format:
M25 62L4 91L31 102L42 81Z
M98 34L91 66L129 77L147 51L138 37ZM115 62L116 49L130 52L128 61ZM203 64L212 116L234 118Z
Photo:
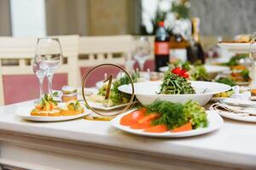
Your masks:
M195 94L195 90L184 77L166 71L160 86L160 94Z

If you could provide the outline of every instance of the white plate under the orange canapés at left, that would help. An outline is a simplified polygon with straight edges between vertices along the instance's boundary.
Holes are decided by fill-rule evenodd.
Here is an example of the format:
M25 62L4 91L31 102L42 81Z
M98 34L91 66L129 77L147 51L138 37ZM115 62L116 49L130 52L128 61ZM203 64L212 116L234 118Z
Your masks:
M15 114L20 116L23 119L28 121L36 121L36 122L58 122L58 121L67 121L72 119L77 119L79 117L86 116L90 114L90 110L84 108L84 113L74 116L31 116L30 112L34 106L20 107L15 111Z

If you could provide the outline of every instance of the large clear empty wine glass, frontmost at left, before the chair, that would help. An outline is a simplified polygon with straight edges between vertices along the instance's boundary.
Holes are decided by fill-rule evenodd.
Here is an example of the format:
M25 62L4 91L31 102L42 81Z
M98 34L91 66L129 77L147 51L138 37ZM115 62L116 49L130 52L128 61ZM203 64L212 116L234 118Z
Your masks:
M35 61L40 69L46 71L49 94L52 94L52 79L62 63L61 43L56 37L38 38Z

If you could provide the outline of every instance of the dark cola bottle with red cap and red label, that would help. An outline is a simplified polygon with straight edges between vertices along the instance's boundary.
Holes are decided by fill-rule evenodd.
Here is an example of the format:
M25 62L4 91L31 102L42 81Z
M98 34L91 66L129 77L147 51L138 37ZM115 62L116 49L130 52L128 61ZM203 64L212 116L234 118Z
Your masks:
M165 23L160 21L154 39L155 71L159 71L160 67L166 66L169 63L169 40L170 37L166 31Z

